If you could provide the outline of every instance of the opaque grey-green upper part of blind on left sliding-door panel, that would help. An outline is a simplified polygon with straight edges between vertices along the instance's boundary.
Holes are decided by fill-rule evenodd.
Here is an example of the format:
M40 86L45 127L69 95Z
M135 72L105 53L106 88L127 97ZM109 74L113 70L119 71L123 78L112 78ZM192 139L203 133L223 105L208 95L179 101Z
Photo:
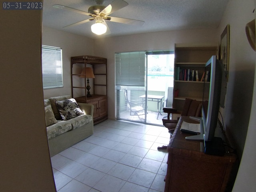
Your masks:
M115 54L116 86L145 86L145 52Z

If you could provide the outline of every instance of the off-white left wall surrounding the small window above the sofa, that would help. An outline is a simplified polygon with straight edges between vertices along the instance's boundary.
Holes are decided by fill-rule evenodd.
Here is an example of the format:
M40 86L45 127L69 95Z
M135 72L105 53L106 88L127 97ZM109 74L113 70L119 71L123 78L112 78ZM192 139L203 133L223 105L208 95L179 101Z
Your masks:
M43 27L42 44L62 48L63 87L44 89L44 98L71 95L70 57L93 55L93 40L48 27Z

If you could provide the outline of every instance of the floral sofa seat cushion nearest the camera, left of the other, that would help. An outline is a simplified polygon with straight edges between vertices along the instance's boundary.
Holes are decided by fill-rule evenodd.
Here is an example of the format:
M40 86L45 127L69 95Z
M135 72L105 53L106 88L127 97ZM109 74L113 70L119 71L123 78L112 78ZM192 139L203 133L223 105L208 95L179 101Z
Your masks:
M70 122L58 121L56 124L46 127L48 139L54 138L62 133L72 130Z

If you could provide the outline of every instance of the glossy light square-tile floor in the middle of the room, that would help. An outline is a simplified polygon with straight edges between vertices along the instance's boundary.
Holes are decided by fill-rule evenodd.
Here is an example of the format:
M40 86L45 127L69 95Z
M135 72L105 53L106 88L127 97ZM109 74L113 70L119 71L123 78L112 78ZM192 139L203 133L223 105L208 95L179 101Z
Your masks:
M53 156L58 192L163 192L170 134L161 126L106 120Z

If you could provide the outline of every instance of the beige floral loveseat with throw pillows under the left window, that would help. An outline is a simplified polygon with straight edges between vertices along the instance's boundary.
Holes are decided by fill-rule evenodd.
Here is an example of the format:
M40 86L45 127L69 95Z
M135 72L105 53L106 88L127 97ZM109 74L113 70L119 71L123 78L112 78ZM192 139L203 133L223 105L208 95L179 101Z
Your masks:
M66 108L64 112L61 106ZM92 104L76 103L70 96L59 96L45 99L44 109L50 156L93 134Z

